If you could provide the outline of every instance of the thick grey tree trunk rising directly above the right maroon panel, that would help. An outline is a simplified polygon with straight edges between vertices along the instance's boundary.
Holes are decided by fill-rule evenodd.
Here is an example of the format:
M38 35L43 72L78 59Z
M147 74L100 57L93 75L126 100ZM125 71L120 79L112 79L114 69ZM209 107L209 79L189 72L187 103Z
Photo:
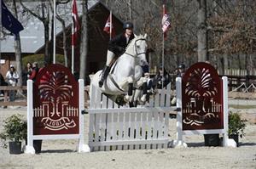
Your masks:
M204 62L207 60L207 0L198 0L198 3L197 53L198 61Z

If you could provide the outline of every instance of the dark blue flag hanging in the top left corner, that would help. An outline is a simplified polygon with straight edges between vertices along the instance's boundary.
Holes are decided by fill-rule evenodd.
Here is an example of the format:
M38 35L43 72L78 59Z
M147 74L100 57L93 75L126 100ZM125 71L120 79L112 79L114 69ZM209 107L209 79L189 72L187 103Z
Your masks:
M1 0L1 10L2 10L2 25L10 31L12 34L17 35L20 31L22 31L24 28L20 24L19 20L15 19L15 16L11 14L8 10L8 8L3 3L3 0Z

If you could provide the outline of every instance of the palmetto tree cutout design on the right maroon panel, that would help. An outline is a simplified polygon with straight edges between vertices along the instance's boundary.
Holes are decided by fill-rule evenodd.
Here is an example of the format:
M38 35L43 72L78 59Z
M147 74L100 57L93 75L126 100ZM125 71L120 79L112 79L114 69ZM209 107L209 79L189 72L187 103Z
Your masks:
M213 81L210 70L206 68L195 69L185 84L185 94L195 99L195 115L207 115L211 110L211 99L218 94L218 88ZM213 114L212 114L213 115Z

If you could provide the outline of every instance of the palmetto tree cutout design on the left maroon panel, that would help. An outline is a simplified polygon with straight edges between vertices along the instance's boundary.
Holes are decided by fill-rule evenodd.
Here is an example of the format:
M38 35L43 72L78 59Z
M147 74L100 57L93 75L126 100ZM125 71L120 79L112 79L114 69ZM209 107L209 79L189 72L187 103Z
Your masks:
M48 71L45 73L39 83L38 89L41 99L53 104L53 111L50 113L51 117L54 115L60 116L61 113L58 111L58 104L62 100L70 99L73 95L72 86L68 85L67 76L61 71Z

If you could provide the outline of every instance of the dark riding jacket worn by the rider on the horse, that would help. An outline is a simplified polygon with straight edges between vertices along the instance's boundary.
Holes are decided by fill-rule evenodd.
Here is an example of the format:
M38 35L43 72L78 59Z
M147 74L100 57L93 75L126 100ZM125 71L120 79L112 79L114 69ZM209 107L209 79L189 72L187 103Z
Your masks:
M133 38L134 34L131 34L128 43L131 42ZM116 56L119 56L125 53L125 48L127 47L128 43L126 42L125 33L119 34L108 42L108 50L113 52L113 54Z

